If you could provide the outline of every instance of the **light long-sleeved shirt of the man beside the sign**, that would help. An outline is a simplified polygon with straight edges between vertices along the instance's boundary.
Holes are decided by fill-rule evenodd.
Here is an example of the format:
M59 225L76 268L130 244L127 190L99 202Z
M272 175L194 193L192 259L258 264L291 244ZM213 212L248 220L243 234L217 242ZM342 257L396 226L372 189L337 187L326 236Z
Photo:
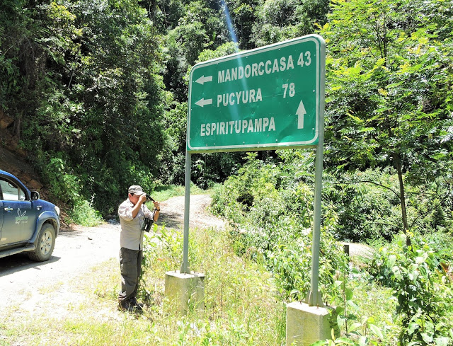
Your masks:
M129 198L122 202L118 208L121 224L120 247L130 250L142 250L144 233L142 224L144 218L154 219L154 215L146 205L142 204L137 216L132 217L132 208L134 208L134 204L130 202Z

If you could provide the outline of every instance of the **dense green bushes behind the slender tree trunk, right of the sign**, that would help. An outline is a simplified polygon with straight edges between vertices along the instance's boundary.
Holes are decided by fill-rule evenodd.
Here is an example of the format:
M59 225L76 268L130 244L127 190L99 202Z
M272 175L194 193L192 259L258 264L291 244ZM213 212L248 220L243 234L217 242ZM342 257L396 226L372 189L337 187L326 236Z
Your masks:
M350 241L391 241L401 229L398 177L391 170L368 169L333 175L324 185L324 195L338 214L335 234ZM417 233L446 231L452 225L449 183L436 179L430 184L406 186L409 230Z

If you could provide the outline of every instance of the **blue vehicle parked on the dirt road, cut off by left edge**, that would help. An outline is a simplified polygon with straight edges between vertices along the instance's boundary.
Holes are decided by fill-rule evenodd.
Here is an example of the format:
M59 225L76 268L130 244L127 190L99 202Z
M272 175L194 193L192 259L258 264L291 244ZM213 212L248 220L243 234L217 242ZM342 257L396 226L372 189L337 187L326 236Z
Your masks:
M27 252L32 260L48 260L59 232L59 207L0 170L0 208L0 258Z

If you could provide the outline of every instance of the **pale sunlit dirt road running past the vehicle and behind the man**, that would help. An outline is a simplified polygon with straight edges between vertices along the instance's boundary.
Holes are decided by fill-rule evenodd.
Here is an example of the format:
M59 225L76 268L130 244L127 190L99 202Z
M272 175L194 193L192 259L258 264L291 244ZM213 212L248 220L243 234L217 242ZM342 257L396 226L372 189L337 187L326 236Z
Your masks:
M209 195L190 197L190 227L223 225L222 220L207 212L209 205ZM158 224L182 231L184 197L162 202L161 209ZM65 283L72 277L117 258L119 246L120 225L113 220L97 227L62 229L47 262L33 262L26 254L0 258L0 310L14 304L33 311L34 303L45 298L46 287L59 284L59 293L64 294Z

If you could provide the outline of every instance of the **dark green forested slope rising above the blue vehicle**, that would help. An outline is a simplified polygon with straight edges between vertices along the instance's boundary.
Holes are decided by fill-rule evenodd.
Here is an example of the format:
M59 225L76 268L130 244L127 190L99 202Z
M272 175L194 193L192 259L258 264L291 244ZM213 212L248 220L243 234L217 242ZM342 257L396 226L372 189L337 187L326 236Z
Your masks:
M1 74L0 104L55 197L71 207L94 196L108 214L128 185L151 188L166 142L159 36L147 12L131 0L7 8L0 69L10 77Z

